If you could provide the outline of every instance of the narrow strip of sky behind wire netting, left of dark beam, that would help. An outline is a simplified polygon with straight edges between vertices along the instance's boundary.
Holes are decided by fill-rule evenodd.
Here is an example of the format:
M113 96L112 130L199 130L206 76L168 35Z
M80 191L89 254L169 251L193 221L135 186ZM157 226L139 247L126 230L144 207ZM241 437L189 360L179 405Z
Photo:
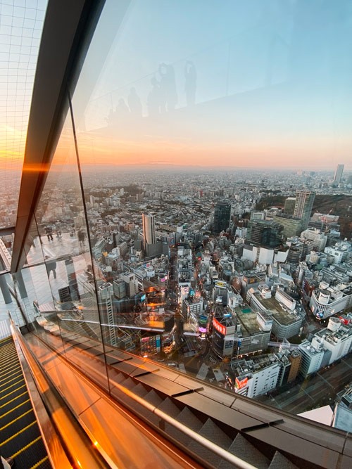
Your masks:
M47 0L0 0L0 171L20 174Z

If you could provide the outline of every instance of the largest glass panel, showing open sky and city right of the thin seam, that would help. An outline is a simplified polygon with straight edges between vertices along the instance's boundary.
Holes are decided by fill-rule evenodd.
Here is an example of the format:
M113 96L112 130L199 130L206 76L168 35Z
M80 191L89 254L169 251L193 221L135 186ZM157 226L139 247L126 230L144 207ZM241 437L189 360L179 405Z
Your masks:
M345 1L106 1L72 100L112 382L127 351L298 413L348 353L319 314L352 291L324 252L351 190L331 173L351 165L350 22Z

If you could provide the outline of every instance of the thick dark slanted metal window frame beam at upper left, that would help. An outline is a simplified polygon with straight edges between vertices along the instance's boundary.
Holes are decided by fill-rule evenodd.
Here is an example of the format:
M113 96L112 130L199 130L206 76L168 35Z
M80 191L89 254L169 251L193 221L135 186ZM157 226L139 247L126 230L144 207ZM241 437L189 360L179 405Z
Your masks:
M27 235L63 122L105 0L49 0L34 79L11 272L25 263Z

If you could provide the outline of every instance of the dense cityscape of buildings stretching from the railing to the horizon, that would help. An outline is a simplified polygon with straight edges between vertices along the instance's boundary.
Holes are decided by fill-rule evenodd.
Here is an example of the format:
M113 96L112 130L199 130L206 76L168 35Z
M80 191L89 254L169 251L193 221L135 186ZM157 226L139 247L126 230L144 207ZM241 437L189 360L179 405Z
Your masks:
M351 392L352 175L344 165L335 174L87 172L85 207L69 179L49 181L44 193L42 245L59 261L77 239L80 255L87 214L94 267L74 281L66 272L58 297L73 307L61 319L92 319L82 285L87 292L95 278L104 340L115 347L294 413ZM0 221L11 226L6 197ZM337 369L327 390L329 375L319 373ZM301 392L304 380L312 395Z

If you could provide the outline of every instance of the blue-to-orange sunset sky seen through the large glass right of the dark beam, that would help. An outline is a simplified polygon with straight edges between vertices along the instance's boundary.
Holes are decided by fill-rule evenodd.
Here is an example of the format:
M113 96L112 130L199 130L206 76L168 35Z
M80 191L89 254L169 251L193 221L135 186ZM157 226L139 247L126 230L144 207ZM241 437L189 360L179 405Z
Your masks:
M352 170L351 26L349 0L107 0L82 164Z

